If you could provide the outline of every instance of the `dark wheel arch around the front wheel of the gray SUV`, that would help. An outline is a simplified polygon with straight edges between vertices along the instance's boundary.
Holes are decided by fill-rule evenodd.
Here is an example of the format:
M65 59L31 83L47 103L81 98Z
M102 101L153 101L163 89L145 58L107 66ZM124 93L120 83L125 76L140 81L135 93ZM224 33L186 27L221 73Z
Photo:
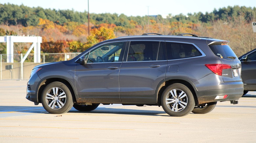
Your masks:
M46 87L48 84L50 84L52 82L61 82L61 83L65 84L70 89L70 92L73 96L73 102L76 101L76 97L78 95L77 95L77 92L75 90L75 85L68 78L62 77L62 76L50 76L50 77L43 78L39 82L40 84L39 84L38 89L37 89L37 98L38 98L39 103L42 103L41 94L43 92L44 87Z

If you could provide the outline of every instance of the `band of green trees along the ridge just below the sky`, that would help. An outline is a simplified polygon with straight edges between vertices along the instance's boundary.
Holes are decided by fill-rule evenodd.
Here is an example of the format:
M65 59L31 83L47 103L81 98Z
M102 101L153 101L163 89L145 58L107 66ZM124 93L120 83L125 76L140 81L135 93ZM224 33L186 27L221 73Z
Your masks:
M130 22L133 21L138 25L144 26L148 24L148 20L156 20L157 23L171 23L171 22L192 22L192 23L209 23L216 20L230 21L235 17L243 15L247 22L253 19L256 8L251 7L224 7L220 9L214 9L208 13L188 13L187 16L183 14L175 15L169 14L166 18L162 18L161 15L156 17L148 16L126 16L124 14L118 15L117 13L90 13L90 22L92 24L115 24L116 26L132 28L134 25ZM24 5L14 4L0 4L0 23L16 25L21 24L23 26L37 26L39 19L47 19L58 25L64 25L67 22L77 22L84 24L88 22L88 12L78 12L74 9L61 10L61 9L44 9L41 7L27 7Z

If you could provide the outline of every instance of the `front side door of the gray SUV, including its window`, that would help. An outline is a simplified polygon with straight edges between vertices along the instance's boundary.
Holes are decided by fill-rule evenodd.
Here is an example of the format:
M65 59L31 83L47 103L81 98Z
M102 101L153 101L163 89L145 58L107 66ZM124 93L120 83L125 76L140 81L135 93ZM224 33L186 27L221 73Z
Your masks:
M85 55L86 64L77 64L75 80L79 101L120 102L118 76L125 44L101 45Z

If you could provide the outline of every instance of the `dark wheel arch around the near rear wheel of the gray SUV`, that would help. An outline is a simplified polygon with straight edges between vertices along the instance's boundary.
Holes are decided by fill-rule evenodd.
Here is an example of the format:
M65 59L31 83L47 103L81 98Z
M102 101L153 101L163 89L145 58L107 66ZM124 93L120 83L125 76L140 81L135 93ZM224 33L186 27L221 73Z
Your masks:
M195 104L198 105L198 99L197 99L197 95L196 95L197 88L194 85L194 83L185 78L176 78L176 79L168 79L159 84L159 88L158 88L158 92L157 92L157 103L159 106L161 105L161 97L162 97L162 93L165 90L165 88L172 84L175 84L175 83L180 83L180 84L183 84L186 87L188 87L194 96Z

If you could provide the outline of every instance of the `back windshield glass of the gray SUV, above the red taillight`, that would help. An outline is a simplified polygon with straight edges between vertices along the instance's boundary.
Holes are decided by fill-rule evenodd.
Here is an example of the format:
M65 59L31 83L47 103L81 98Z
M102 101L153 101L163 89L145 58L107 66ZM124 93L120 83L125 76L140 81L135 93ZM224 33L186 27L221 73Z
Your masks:
M232 60L236 59L237 56L233 50L226 43L213 43L209 45L212 52L223 59Z

